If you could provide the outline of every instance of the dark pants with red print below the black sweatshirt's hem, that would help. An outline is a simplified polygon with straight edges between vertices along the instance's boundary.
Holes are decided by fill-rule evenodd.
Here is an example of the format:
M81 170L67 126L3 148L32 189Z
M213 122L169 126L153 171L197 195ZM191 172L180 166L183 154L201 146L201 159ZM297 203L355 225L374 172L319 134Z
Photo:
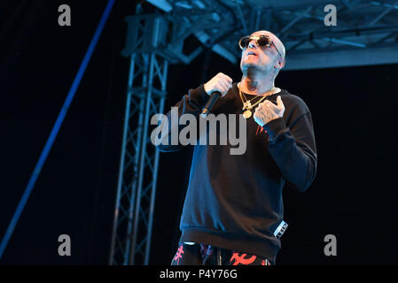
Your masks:
M204 244L180 243L171 265L270 265L267 258Z

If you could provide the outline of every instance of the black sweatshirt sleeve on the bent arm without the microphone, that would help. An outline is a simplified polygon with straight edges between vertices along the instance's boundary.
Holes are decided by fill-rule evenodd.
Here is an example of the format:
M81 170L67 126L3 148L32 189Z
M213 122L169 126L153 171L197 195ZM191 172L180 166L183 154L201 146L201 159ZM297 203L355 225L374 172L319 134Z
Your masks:
M306 191L316 176L316 142L311 113L300 114L289 126L285 119L278 118L263 127L269 134L269 153L287 185L299 192Z

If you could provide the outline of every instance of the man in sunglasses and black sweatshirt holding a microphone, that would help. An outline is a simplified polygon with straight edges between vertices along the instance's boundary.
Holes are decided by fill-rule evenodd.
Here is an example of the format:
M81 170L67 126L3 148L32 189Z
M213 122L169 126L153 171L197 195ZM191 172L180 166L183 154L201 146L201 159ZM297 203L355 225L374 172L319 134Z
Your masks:
M172 264L276 264L287 226L282 189L286 183L304 192L316 176L311 113L300 97L274 86L285 65L283 43L275 34L257 31L239 46L239 83L218 73L176 104L179 116L199 119L209 96L219 91L222 98L212 112L243 114L246 152L231 155L228 145L195 145Z

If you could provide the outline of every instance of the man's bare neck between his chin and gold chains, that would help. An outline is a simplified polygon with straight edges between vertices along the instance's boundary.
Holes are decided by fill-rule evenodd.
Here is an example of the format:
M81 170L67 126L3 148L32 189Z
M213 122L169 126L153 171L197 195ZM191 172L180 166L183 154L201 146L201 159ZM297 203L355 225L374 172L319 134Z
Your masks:
M239 88L242 92L259 96L274 87L274 80L268 76L261 76L254 72L246 72L240 80Z

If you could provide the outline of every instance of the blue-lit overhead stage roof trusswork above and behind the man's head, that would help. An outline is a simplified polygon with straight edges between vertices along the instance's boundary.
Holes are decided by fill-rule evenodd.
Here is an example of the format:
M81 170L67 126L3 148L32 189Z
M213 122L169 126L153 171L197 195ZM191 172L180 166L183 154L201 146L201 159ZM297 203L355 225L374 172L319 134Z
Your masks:
M165 16L169 18L185 15L191 34L231 63L237 63L241 55L238 39L260 29L277 34L285 43L284 70L398 63L396 0L148 2L160 9L160 2L168 3ZM337 26L324 24L327 4L336 7ZM207 18L195 17L199 11Z

